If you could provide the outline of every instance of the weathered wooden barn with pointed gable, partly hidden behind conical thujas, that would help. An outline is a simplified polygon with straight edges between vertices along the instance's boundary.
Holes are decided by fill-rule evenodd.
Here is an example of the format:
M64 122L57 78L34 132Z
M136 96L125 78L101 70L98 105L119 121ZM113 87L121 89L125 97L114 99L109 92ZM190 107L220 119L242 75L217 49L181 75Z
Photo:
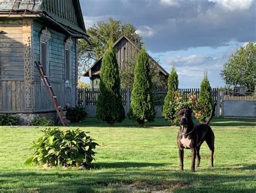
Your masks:
M126 61L129 61L133 57L136 57L140 48L126 35L122 35L116 42L113 44L114 49L116 49L117 61L119 69L122 70L126 66ZM100 82L100 67L102 66L103 56L99 58L89 69L86 70L83 76L90 77L91 87L99 88ZM169 74L166 70L159 65L159 63L149 56L150 62L159 70L159 75L163 77L167 83L167 78Z

